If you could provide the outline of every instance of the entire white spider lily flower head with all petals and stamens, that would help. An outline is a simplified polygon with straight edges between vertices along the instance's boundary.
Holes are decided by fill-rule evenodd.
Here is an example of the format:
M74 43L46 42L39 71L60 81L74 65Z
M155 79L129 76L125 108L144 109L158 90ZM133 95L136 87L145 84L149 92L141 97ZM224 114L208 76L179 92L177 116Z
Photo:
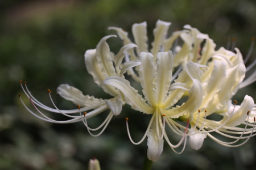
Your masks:
M106 42L110 37L117 37L115 35L103 37L96 49L86 50L85 65L88 73L93 76L98 86L113 96L111 99L96 99L94 96L83 95L80 90L68 84L61 84L57 88L57 93L78 105L78 109L63 111L58 109L53 101L55 108L40 103L28 91L26 82L25 87L20 82L24 93L42 117L24 106L44 121L59 124L82 121L91 135L93 134L90 131L99 130L104 126L99 134L93 135L98 136L108 126L113 115L117 116L121 113L122 105L129 104L136 111L152 114L146 133L138 143L130 137L128 118L126 118L131 142L138 145L147 137L147 156L152 161L158 160L162 154L164 139L174 152L182 143L184 146L181 152L184 151L187 137L190 146L195 150L199 150L206 137L223 146L243 145L250 137L256 135L254 100L246 95L241 105L238 105L236 100L232 104L231 99L240 88L256 80L256 71L244 80L246 71L256 62L246 68L242 54L235 48L234 42L230 50L223 47L215 50L216 44L213 40L190 25L185 25L182 31L175 31L166 38L170 25L171 23L161 20L156 22L150 52L148 52L146 22L133 24L135 42L129 39L128 33L123 29L109 28L117 31L119 38L123 40L123 47L116 55L110 51ZM181 46L178 45L178 40L183 41ZM250 57L253 44L254 39L245 61ZM123 60L125 62L122 62ZM173 74L174 70L176 71ZM126 72L141 83L143 96L130 86L129 80L125 79L123 74ZM49 96L51 97L51 91ZM187 101L178 105L178 101L186 96ZM21 97L20 100L22 101ZM71 117L71 120L52 120L39 111L38 107L64 114ZM87 119L107 109L110 109L110 113L106 120L96 129L89 128ZM90 112L86 113L86 111ZM80 113L80 115L73 116L72 113ZM223 118L221 121L209 120L207 116L210 114L219 114ZM183 126L175 120L187 122L187 125ZM241 124L244 124L245 128L237 127ZM166 126L180 135L180 142L176 145L170 142L165 131ZM215 138L212 132L236 140L223 142ZM234 145L240 139L245 141ZM176 153L181 154L181 152Z

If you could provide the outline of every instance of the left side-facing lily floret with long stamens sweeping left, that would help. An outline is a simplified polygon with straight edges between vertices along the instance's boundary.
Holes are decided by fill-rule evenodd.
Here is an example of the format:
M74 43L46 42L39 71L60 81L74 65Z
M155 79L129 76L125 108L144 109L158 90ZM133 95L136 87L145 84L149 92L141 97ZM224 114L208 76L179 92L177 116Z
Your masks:
M140 61L134 60L131 62L126 62L124 65L121 65L123 57L125 57L125 53L129 52L130 49L137 47L135 44L127 44L123 46L119 53L114 56L114 61L112 61L112 52L110 52L109 45L106 43L106 40L110 37L116 37L115 35L111 36L105 36L101 39L101 41L98 43L96 49L90 49L86 50L85 52L85 65L86 69L88 70L88 73L93 76L94 82L98 84L106 93L113 96L113 98L109 100L103 100L103 99L96 99L94 96L89 95L83 95L80 90L78 90L75 87L69 86L68 84L61 84L57 88L57 94L59 94L61 97L63 97L66 100L72 101L74 104L78 105L78 109L73 110L60 110L56 107L56 105L53 103L53 100L51 98L51 91L49 92L49 97L52 101L52 104L55 108L47 107L46 105L40 103L38 100L35 99L34 96L32 96L31 92L27 88L26 82L24 82L25 88L22 86L22 83L20 81L20 85L26 94L26 96L31 100L32 105L36 108L36 111L38 111L43 117L38 116L34 112L30 111L26 107L26 109L34 114L34 116L47 121L47 122L54 122L57 124L68 124L78 121L83 121L84 125L88 129L89 133L93 135L90 130L95 131L102 126L104 128L101 130L101 132L97 135L93 135L94 137L100 135L108 126L110 120L112 119L113 115L117 116L122 111L122 105L125 104L122 101L122 98L119 96L118 90L116 90L113 86L108 86L103 84L104 79L108 78L109 76L120 76L124 77L123 74L126 73L127 70L131 69L134 66L138 66L141 64ZM115 62L115 67L113 65L113 62ZM25 90L26 89L26 90ZM20 95L19 95L20 97ZM20 100L22 101L22 98L20 97ZM22 101L23 103L23 101ZM23 103L24 104L24 103ZM47 117L45 114L43 114L39 109L37 108L43 108L46 111L53 112L53 113L61 113L67 117L72 118L71 120L67 121L56 121L49 117ZM83 107L83 108L81 108ZM87 125L86 119L96 116L97 114L106 111L107 109L110 109L109 115L106 117L106 120L96 129L89 128ZM92 110L92 111L90 111ZM86 111L90 111L86 113ZM82 116L81 112L84 112L84 116ZM73 116L73 113L80 113L78 116Z

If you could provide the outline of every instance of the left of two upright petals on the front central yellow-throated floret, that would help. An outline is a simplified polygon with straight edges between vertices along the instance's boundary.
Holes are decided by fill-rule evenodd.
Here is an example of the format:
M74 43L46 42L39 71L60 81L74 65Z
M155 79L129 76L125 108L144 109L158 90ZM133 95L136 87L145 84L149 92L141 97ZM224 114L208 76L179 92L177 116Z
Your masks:
M148 103L154 107L156 103L154 57L151 53L142 52L139 60L141 61L141 65L139 65L139 78L141 78L142 92Z

